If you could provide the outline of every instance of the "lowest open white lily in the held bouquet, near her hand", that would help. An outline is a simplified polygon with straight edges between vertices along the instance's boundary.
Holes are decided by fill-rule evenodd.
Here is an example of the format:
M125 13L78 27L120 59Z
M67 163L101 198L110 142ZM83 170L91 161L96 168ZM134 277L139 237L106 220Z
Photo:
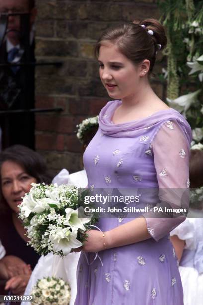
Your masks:
M53 243L53 250L55 252L61 251L64 255L67 255L71 252L71 249L79 248L83 244L77 240L78 231L70 231L69 228L59 229L55 235L50 235L50 240Z

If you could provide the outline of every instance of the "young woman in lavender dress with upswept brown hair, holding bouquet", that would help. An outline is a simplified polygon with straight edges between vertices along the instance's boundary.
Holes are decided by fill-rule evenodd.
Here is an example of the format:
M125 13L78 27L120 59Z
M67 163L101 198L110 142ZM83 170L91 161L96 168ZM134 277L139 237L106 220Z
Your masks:
M107 30L96 44L101 81L113 99L84 153L88 186L187 189L191 129L154 93L149 76L166 46L154 19ZM173 204L173 203L172 203ZM177 203L181 204L181 203ZM88 232L78 264L75 305L183 305L169 232L184 217L101 218ZM87 264L99 252L98 258Z

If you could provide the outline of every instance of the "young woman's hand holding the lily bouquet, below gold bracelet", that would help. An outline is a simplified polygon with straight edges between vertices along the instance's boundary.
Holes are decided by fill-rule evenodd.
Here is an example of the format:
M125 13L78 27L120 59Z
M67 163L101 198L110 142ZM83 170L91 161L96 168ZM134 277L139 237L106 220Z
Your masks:
M103 232L98 230L89 230L86 233L88 235L87 241L84 242L82 247L73 249L74 252L79 252L81 250L84 252L99 252L105 250L104 243L106 243L106 236L103 237Z

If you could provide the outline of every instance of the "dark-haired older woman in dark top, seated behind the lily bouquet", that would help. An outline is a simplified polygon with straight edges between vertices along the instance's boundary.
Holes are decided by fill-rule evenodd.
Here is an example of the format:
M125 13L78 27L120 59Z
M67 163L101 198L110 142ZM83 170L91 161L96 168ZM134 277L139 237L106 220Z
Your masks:
M33 182L51 183L46 164L37 152L14 145L0 153L0 240L6 256L18 258L32 269L39 255L27 246L26 229L18 218L18 205ZM29 277L28 272L12 277L5 289L14 294L23 293Z

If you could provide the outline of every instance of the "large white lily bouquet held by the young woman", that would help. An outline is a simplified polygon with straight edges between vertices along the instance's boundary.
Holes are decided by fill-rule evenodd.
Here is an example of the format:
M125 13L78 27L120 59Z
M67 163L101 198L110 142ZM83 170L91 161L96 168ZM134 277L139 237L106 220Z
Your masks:
M70 185L32 183L19 209L28 243L41 255L53 252L63 257L81 247L87 238L87 224L97 221L91 215L79 218L78 188Z

